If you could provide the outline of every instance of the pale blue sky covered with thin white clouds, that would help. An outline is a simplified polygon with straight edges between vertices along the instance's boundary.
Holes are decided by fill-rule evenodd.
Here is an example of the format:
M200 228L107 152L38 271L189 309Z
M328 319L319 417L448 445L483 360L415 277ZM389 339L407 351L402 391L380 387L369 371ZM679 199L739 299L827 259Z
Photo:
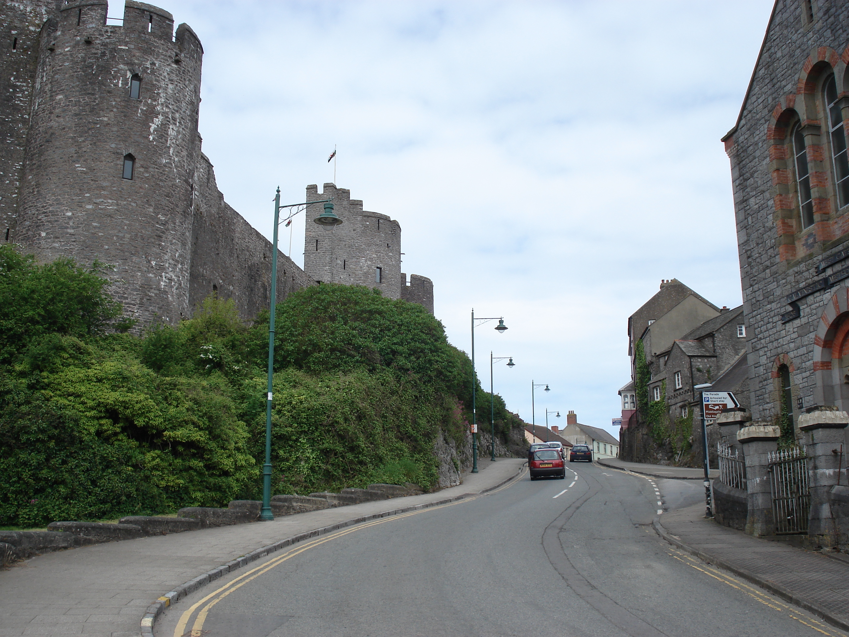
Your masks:
M337 185L401 223L449 340L469 351L472 307L503 315L475 332L478 371L488 386L490 351L514 357L495 390L526 420L534 380L537 424L574 409L618 435L627 317L661 279L741 302L719 138L771 0L157 4L203 42L228 202L270 236L274 189L332 182L336 145Z

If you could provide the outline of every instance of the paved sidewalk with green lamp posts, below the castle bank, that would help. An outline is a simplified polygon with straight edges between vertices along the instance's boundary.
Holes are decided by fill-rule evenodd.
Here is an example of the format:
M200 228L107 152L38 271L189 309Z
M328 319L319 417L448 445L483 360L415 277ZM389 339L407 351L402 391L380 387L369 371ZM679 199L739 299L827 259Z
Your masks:
M201 573L298 533L464 493L481 493L518 474L525 462L520 458L494 463L482 459L480 473L466 474L459 487L437 493L39 555L0 571L0 637L137 637L147 607Z

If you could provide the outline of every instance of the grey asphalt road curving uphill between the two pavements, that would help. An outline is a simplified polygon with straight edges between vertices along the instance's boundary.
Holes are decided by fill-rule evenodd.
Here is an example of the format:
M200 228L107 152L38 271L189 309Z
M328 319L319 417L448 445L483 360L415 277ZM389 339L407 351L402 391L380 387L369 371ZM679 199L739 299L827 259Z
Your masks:
M295 545L181 600L156 634L844 635L658 538L658 510L699 501L700 482L568 467Z

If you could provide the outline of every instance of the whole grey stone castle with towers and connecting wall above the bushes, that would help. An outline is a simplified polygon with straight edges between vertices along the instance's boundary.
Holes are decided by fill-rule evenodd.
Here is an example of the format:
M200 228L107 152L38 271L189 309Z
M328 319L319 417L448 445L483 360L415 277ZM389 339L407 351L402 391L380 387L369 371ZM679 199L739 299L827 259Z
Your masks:
M104 0L0 9L0 231L41 261L112 265L113 294L140 324L188 318L212 292L252 318L268 304L272 246L224 201L201 152L200 40L149 4L127 0L122 25L107 11ZM306 272L278 251L278 299L316 281L404 297L400 226L328 189L347 223L318 236L327 250L306 251ZM365 217L383 228L369 234ZM306 226L307 244L324 234ZM368 268L384 268L380 283ZM432 291L413 296L432 312Z

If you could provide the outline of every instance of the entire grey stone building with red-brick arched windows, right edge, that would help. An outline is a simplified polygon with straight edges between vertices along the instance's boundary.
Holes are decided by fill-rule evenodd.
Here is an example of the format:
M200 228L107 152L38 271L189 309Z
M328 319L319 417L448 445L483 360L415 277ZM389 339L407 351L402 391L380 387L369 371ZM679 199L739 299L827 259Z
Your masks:
M753 420L849 409L849 2L778 0L731 161Z

